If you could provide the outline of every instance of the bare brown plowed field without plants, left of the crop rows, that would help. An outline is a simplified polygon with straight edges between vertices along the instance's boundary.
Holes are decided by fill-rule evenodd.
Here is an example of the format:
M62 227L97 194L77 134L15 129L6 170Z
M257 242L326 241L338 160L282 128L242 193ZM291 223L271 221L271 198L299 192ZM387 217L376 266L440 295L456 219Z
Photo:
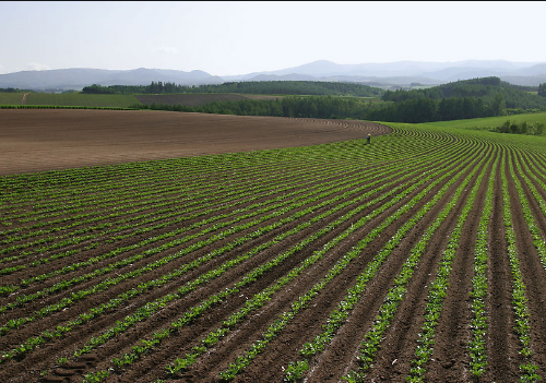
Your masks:
M152 110L0 110L0 175L296 147L391 130L348 120Z

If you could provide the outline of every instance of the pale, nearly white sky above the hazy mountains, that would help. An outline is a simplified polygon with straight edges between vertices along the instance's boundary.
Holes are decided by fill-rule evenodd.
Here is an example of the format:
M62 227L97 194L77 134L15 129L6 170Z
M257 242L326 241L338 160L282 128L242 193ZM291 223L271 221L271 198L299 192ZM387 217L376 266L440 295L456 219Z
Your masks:
M546 1L0 1L0 74L546 62Z

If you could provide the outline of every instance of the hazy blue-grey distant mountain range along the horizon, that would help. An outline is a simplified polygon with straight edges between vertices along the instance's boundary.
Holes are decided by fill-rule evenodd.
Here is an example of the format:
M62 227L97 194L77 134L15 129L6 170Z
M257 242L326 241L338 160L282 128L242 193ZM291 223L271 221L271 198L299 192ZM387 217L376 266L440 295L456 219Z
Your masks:
M57 69L0 74L0 87L34 91L80 91L84 86L149 85L170 82L179 85L222 84L230 81L340 81L372 86L440 85L476 77L497 76L514 85L546 83L546 62L467 60L459 62L397 61L390 63L337 64L319 60L300 67L249 74L215 76L203 71L166 69Z

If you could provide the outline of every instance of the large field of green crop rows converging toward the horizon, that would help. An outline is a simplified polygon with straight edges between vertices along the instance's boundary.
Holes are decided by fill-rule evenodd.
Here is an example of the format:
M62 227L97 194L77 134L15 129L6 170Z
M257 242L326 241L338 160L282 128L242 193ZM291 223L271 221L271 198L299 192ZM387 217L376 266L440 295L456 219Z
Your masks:
M0 185L1 382L546 376L546 151L394 124Z

